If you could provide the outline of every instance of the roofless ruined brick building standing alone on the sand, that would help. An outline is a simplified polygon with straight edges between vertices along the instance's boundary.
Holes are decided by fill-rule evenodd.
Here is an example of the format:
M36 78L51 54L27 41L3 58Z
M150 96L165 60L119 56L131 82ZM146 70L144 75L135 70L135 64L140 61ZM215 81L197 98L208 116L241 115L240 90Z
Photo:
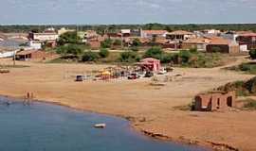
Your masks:
M201 93L194 97L194 110L214 111L227 110L234 107L235 92L209 92Z

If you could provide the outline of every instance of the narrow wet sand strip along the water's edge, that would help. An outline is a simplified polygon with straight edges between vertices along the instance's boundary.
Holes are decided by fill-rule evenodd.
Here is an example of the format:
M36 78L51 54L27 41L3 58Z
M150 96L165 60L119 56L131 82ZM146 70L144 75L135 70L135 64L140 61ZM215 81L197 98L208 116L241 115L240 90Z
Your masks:
M17 102L22 102L24 99L23 97L5 95L5 94L1 94L1 93L0 93L0 97L14 99L14 101L17 101ZM174 139L170 136L167 136L167 135L164 135L161 133L155 133L150 130L144 129L142 127L136 126L137 125L136 117L127 117L127 116L123 116L123 115L119 115L119 114L103 113L101 111L95 111L95 110L90 110L90 109L79 109L79 108L75 108L70 105L64 104L62 102L57 102L57 101L31 99L31 102L46 103L49 105L62 106L67 109L74 109L74 110L78 110L78 111L91 112L91 113L119 117L119 118L127 120L129 123L129 126L133 130L135 130L135 132L140 133L141 135L148 136L152 139L159 140L159 141L167 141L167 142L181 143L181 144L188 144L188 145L197 145L197 146L206 147L206 149L209 148L209 149L216 150L216 151L224 151L224 150L225 151L239 151L238 148L236 148L234 146L230 146L229 144L226 144L226 143L214 143L214 142L210 142L210 141L200 142L197 140L186 139L185 137L179 137L179 139Z

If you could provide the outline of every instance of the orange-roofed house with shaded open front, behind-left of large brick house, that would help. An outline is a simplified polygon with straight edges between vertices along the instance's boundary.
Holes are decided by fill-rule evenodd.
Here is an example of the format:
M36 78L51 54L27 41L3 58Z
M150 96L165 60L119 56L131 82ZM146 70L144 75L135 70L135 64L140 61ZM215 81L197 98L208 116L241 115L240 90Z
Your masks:
M194 38L195 35L192 32L185 30L176 30L166 34L166 39L172 41L186 41L188 39Z

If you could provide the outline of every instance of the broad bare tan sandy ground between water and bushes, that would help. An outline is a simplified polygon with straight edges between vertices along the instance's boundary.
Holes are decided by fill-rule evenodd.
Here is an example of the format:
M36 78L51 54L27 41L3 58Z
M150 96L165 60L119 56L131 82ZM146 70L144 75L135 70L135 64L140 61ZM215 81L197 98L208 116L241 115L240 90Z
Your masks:
M6 59L0 63L11 64ZM0 94L22 97L26 92L33 92L36 99L129 118L137 129L162 138L186 143L214 143L224 149L232 146L243 151L256 150L256 111L211 113L174 109L191 103L198 92L248 79L249 75L220 68L176 68L172 74L182 77L163 87L150 86L150 79L77 83L74 78L68 78L71 73L76 75L74 73L106 66L16 63L30 67L10 69L9 74L0 75Z

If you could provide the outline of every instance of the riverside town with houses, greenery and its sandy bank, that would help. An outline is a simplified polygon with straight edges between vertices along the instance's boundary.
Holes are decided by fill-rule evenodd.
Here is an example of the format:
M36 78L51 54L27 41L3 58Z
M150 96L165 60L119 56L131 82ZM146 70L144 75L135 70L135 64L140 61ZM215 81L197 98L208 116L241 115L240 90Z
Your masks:
M254 31L47 26L1 32L0 50L0 94L26 105L116 115L151 137L216 150L256 147Z

